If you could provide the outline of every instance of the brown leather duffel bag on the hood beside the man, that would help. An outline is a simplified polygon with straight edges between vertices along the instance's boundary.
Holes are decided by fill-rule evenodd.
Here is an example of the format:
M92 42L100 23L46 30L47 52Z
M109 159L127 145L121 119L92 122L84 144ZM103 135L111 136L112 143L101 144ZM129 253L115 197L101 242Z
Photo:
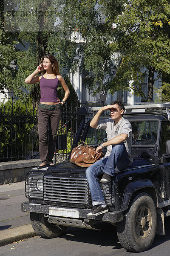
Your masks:
M73 148L70 161L77 166L89 167L101 157L104 157L102 152L97 154L96 148L92 148L86 145L84 141L82 141L80 145L78 145L76 148Z

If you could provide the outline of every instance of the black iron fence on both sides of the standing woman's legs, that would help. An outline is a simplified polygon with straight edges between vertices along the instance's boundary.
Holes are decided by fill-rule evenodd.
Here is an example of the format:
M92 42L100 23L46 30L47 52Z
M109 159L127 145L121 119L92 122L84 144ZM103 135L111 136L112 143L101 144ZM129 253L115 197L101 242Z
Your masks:
M88 110L88 108L86 108ZM91 118L88 111L85 121ZM81 122L79 107L65 105L57 132L54 162L68 159ZM0 162L40 158L37 110L25 109L10 102L0 108Z

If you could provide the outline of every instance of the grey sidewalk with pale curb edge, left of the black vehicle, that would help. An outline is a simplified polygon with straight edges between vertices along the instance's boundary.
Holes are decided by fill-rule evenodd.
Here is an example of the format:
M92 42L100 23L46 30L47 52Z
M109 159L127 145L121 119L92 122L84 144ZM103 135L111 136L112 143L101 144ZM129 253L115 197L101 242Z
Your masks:
M0 185L0 246L36 236L29 212L21 211L27 200L24 181Z

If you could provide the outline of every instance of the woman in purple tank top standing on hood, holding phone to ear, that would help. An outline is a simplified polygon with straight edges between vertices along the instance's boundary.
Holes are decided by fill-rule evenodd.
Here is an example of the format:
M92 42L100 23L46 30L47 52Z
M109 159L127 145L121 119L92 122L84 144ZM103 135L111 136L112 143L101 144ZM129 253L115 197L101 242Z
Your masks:
M42 75L37 76L42 71ZM57 129L61 118L61 106L67 100L70 91L60 76L57 59L54 55L45 55L42 63L26 78L27 84L40 83L40 104L38 107L38 133L39 151L42 163L37 166L41 169L53 164L53 156L56 145ZM62 101L57 97L57 87L61 84L65 95ZM49 137L48 137L49 127Z

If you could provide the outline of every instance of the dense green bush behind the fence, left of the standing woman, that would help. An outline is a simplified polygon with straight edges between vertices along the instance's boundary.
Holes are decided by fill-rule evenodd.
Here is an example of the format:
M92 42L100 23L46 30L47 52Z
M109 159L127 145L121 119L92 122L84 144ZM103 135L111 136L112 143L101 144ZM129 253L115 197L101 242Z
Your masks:
M31 102L0 103L0 160L24 159L36 142L37 112Z

